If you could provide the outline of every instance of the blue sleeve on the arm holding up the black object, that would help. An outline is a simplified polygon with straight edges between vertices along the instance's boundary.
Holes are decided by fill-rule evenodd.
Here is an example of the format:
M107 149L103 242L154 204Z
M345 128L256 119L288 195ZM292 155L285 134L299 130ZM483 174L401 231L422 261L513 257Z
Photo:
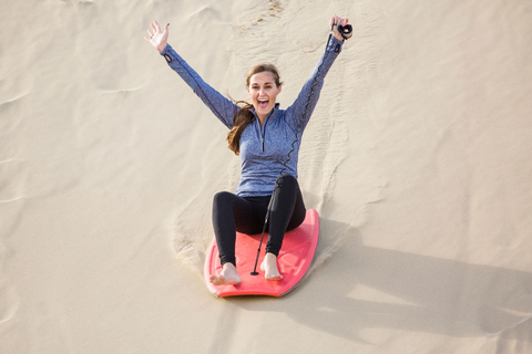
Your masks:
M294 131L297 131L300 122L301 129L305 129L307 126L314 108L318 103L325 76L341 52L342 44L344 41L339 41L334 35L330 35L325 52L314 69L310 79L307 80L293 105L286 110L287 123Z

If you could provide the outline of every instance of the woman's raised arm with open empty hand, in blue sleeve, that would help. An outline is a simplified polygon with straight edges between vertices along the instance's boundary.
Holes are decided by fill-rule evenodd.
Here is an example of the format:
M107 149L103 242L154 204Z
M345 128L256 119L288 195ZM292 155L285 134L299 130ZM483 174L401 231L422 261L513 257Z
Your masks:
M168 24L165 25L163 31L157 21L154 21L147 33L150 38L145 38L145 40L166 59L170 67L191 86L194 93L205 103L214 115L231 129L233 127L235 110L238 110L238 107L231 100L208 85L183 58L167 44Z

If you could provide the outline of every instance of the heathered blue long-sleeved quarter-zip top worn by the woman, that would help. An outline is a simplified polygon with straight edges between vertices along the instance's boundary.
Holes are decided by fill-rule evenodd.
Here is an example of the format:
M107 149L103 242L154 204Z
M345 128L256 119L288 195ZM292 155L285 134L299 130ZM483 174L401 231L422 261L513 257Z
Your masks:
M241 183L236 194L241 197L270 196L279 173L297 178L297 162L301 134L305 129L324 85L324 79L336 56L341 52L342 41L330 35L310 79L305 83L296 101L286 110L276 103L263 126L258 118L247 125L241 136ZM207 105L214 115L229 129L233 127L235 112L239 110L231 100L211 87L170 46L161 52L168 65L192 87L194 93ZM255 114L254 110L252 112ZM256 116L255 116L256 117ZM300 124L300 133L296 132ZM286 168L284 166L286 164Z

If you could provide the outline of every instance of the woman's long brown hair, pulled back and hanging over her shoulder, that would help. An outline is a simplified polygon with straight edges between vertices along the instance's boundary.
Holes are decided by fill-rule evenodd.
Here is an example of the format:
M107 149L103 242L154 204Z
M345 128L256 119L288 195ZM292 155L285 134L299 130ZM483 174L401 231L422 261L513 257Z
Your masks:
M283 83L280 82L279 71L275 67L274 64L270 63L260 63L247 72L246 77L246 87L249 87L249 81L252 76L262 72L268 71L274 75L275 84L279 87ZM253 104L246 101L236 101L237 105L239 105L239 110L235 110L235 116L233 118L233 128L227 134L227 142L228 147L235 155L239 155L241 153L241 135L242 132L246 128L246 126L253 122L255 115L250 112L253 108Z

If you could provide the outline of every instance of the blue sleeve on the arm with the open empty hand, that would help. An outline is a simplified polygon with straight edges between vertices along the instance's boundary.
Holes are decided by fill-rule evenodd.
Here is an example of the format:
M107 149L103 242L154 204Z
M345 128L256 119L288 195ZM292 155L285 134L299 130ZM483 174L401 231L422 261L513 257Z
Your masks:
M231 129L233 127L233 117L238 106L203 81L170 44L161 52L161 55L166 59L170 67L191 86L192 91L194 91L214 115Z

